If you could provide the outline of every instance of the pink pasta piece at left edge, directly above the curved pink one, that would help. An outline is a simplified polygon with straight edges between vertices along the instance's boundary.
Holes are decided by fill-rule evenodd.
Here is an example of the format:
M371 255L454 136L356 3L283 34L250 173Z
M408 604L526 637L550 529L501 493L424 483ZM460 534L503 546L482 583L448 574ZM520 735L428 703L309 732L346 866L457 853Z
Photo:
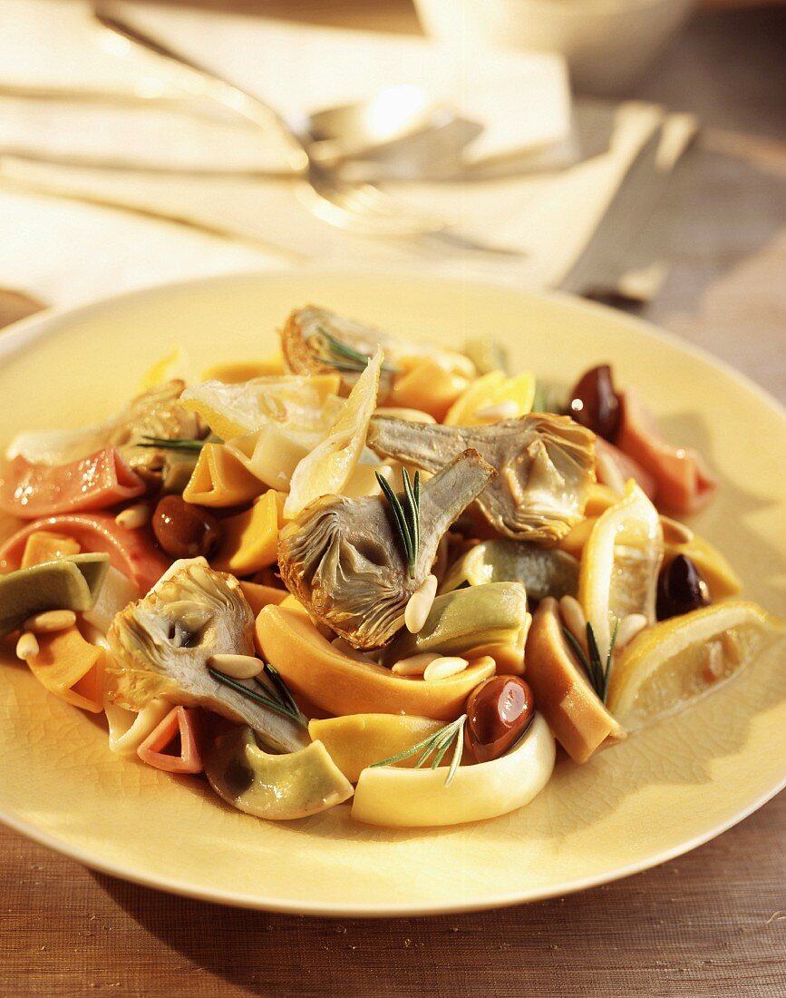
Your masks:
M70 464L33 464L19 455L0 477L0 510L34 520L56 513L106 509L146 491L114 447Z

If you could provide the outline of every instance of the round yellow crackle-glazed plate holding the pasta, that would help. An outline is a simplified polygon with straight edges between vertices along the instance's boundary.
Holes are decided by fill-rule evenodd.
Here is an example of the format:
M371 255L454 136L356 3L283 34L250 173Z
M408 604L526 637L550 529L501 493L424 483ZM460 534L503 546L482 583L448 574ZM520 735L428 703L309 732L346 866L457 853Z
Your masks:
M626 315L567 297L396 275L219 277L33 318L0 334L0 441L113 412L152 359L188 344L196 370L260 356L308 301L456 346L483 329L517 367L563 382L612 361L669 437L720 478L695 529L748 599L786 615L786 416L731 370ZM590 763L561 761L521 811L438 830L367 828L341 805L271 824L232 811L195 777L113 755L96 718L19 664L0 669L0 817L118 876L247 907L426 914L561 895L662 862L745 817L786 783L783 648L689 713ZM778 661L780 660L780 661Z

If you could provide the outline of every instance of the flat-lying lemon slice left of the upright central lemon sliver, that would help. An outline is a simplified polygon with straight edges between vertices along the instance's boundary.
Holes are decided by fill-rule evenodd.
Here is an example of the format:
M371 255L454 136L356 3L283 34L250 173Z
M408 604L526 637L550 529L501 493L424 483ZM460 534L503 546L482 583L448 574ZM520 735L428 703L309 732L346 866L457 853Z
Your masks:
M324 432L336 415L338 374L257 377L240 383L203 381L187 388L181 405L198 412L221 440L251 433L268 423L287 430Z

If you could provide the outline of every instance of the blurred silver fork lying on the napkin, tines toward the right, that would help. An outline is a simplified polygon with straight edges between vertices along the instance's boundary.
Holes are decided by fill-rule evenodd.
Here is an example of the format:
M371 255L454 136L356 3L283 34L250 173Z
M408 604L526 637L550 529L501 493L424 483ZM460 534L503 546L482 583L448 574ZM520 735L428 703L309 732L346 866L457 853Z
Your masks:
M309 154L308 142L274 108L130 24L111 5L97 4L94 15L104 27L187 70L202 96L262 129L277 132L286 149L292 179L300 181L295 188L300 201L322 222L368 236L428 236L442 234L448 228L444 218L403 209L372 184L342 180L335 170Z

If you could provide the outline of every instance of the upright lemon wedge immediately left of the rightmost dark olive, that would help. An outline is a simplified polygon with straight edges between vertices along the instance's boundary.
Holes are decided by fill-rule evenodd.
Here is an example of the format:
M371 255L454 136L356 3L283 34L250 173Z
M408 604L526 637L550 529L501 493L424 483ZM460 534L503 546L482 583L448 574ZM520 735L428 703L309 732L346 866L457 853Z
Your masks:
M654 623L662 560L658 512L631 478L619 502L595 521L582 552L579 602L592 625L601 662L617 621L628 614L643 614Z

